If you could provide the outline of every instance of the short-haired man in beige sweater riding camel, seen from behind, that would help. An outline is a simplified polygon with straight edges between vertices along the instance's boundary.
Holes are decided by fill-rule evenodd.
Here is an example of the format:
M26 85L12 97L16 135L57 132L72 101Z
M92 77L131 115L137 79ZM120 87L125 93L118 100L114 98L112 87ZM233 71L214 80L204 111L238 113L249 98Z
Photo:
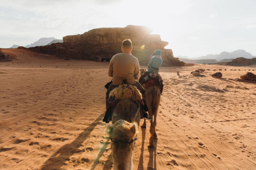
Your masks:
M134 57L131 54L131 51L133 50L131 40L123 40L121 49L123 53L114 55L109 63L108 75L110 77L113 77L113 82L108 83L106 85L107 87L105 86L106 88L108 88L106 92L106 104L108 102L110 91L124 82L136 86L138 90L140 90L142 95L144 95L145 93L145 89L141 86L141 84L138 81L136 81L140 77L140 65L138 62L138 58ZM148 113L146 112L146 105L145 107L143 107L143 110L144 111L143 115L141 114L141 118L150 120ZM107 110L103 122L109 122L108 117L109 115Z

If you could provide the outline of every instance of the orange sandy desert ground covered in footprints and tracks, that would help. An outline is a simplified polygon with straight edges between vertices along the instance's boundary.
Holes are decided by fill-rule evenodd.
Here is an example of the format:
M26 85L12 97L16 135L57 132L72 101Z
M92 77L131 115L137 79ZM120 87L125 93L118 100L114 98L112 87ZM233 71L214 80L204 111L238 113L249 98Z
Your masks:
M102 138L108 63L2 51L13 62L0 62L0 170L113 169ZM193 77L198 68L210 71ZM210 76L220 68L223 78ZM148 148L149 122L139 129L133 169L255 170L256 85L229 80L248 69L161 67L158 139Z

